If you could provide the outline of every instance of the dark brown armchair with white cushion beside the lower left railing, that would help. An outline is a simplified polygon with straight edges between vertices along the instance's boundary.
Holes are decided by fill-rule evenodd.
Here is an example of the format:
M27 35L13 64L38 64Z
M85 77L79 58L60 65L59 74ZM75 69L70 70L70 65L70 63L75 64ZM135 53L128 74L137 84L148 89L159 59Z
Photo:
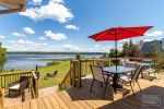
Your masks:
M19 95L22 96L22 101L24 101L25 88L30 90L30 76L20 76L19 81L9 84L9 97L11 96L11 92L19 93Z

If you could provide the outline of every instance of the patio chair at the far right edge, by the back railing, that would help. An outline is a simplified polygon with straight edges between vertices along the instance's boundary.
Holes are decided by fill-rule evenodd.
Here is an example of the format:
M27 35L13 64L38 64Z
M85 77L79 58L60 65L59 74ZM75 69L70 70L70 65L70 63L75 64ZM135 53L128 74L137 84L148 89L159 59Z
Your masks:
M160 73L160 70L163 66L163 64L164 64L164 62L159 62L155 68L145 69L143 71L143 74L150 75L153 73L155 75L155 78L156 78L156 74L157 74L159 78L161 78L160 74L162 74L162 73ZM148 77L148 75L145 75L144 78ZM162 77L163 77L163 74L162 74ZM150 81L152 81L152 80L150 80Z

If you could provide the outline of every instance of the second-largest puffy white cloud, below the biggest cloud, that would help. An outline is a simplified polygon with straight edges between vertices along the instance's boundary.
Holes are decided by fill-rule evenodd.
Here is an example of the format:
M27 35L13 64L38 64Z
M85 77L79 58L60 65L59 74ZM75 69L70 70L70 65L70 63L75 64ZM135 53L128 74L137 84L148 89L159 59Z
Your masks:
M67 36L61 33L52 33L51 31L45 31L45 36L55 40L63 40L67 39Z

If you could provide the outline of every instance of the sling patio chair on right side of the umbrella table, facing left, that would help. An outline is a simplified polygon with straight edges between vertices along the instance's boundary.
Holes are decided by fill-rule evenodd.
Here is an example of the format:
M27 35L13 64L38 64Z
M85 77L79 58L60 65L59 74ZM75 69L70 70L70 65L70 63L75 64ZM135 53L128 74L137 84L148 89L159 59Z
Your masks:
M143 66L137 66L136 71L134 71L134 73L132 74L131 77L125 76L125 75L120 76L120 80L122 81L122 83L125 83L125 84L129 83L130 84L130 87L131 87L131 90L132 90L133 95L134 95L134 92L133 92L133 88L132 88L132 83L134 83L134 82L138 84L139 89L141 92L141 87L139 85L138 78L139 78L140 73L142 72L142 69L143 69Z

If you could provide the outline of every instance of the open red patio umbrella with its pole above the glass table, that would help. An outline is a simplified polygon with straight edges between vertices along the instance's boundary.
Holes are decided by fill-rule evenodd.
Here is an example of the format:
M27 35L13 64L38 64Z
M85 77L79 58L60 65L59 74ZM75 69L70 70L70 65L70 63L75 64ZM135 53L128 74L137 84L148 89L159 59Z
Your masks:
M138 27L112 27L89 38L95 41L115 40L116 61L117 61L117 40L143 36L144 33L153 26L138 26ZM117 66L117 64L116 64Z

